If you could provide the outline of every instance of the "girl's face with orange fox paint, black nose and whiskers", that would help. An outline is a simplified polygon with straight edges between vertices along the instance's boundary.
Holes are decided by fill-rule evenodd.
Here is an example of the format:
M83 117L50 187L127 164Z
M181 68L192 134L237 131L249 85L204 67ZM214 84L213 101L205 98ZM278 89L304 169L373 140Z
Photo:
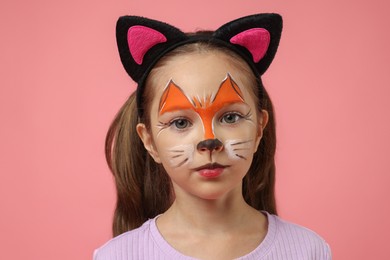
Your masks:
M139 124L137 131L177 198L241 194L268 118L245 75L225 54L208 52L178 55L151 80L151 129Z

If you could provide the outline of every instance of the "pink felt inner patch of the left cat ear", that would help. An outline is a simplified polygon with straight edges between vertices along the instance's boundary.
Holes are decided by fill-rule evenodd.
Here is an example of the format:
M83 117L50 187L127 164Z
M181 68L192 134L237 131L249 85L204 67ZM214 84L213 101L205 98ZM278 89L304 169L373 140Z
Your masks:
M142 25L134 25L127 31L130 54L138 65L142 64L145 54L153 46L166 41L162 33Z

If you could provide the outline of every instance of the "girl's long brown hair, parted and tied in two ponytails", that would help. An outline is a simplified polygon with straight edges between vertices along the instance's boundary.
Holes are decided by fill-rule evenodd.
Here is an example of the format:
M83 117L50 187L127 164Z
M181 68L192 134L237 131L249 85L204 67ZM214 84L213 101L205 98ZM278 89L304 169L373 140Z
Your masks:
M106 159L114 174L117 202L113 220L113 234L135 229L147 219L166 211L174 200L172 183L161 164L157 164L145 150L136 132L142 122L150 129L150 103L153 97L152 79L172 57L198 52L221 52L233 66L242 71L251 83L258 110L269 114L268 124L251 167L243 179L243 197L253 208L276 214L275 202L275 120L272 102L247 63L236 53L215 44L198 42L180 46L166 54L152 69L143 93L143 117L139 118L135 93L122 106L106 137Z

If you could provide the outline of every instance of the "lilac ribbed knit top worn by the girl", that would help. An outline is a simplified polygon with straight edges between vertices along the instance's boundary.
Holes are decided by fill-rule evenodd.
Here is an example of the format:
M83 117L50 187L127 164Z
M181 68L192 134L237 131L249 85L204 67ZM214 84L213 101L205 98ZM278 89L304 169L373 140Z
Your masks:
M268 231L261 244L240 260L328 260L328 244L313 231L288 223L265 212ZM156 218L141 227L123 233L95 250L94 260L194 260L175 250L165 241L156 226Z

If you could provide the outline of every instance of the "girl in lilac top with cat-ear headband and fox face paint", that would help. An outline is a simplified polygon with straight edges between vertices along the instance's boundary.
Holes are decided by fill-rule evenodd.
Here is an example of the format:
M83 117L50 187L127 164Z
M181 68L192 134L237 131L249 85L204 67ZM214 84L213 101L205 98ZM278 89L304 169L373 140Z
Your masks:
M185 34L121 17L122 63L138 83L106 139L115 177L108 259L331 259L314 232L276 216L275 122L260 76L277 14Z

